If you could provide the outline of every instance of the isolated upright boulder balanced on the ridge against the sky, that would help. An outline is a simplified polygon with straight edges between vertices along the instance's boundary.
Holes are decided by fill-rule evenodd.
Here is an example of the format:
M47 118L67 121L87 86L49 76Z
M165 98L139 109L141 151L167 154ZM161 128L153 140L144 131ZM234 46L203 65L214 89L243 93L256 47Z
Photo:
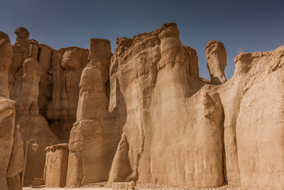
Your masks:
M225 83L226 49L223 43L219 41L209 41L206 44L205 51L212 85Z

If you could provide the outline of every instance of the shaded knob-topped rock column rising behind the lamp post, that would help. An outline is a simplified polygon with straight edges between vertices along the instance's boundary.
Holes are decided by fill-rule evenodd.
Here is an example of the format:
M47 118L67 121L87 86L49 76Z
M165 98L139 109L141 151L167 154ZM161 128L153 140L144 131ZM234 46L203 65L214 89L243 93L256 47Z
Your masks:
M39 114L38 94L40 74L38 63L38 42L27 40L28 32L17 28L17 40L13 45L13 60L9 70L9 90L11 99L16 101L16 123L21 126L23 140L35 138L40 147L33 153L28 149L24 184L31 184L33 178L43 177L45 164L44 149L58 142L50 131L45 117Z

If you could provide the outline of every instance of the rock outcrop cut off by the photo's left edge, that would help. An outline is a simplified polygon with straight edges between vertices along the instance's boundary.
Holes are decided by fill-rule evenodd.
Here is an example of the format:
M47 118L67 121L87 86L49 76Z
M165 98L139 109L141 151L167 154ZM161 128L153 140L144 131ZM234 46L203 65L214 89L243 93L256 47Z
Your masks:
M0 31L0 189L20 190L23 170L23 139L15 127L15 102L9 98L9 67L12 46L6 33Z

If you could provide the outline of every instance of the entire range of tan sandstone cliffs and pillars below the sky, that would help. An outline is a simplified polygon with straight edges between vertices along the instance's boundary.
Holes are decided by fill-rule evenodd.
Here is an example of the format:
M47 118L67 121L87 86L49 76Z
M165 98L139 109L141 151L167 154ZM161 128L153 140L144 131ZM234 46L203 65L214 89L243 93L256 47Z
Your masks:
M116 38L113 55L104 39L55 50L15 33L11 46L0 32L0 189L20 188L21 136L40 144L25 184L45 168L50 187L283 189L284 46L236 56L226 81L223 43L207 43L211 80L200 78L175 23Z

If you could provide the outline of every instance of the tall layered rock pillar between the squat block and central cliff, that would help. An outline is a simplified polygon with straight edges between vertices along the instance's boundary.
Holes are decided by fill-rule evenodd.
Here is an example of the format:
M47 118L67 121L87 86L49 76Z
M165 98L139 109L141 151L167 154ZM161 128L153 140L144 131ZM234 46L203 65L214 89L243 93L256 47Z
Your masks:
M107 181L121 134L116 111L108 111L110 43L92 38L89 51L90 61L80 80L77 121L70 134L67 186Z

